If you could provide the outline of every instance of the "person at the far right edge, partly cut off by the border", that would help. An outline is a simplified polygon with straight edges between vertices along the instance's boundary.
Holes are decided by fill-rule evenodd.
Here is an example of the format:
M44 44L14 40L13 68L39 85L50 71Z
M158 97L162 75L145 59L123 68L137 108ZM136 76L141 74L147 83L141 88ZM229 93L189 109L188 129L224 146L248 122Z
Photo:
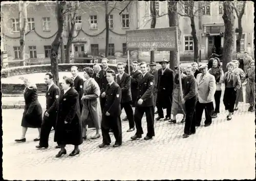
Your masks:
M255 76L255 65L254 61L250 63L250 69L247 70L246 78L247 78L247 84L245 88L245 100L246 103L250 104L250 107L248 111L255 111L254 105L255 105L255 82L254 82L254 76Z

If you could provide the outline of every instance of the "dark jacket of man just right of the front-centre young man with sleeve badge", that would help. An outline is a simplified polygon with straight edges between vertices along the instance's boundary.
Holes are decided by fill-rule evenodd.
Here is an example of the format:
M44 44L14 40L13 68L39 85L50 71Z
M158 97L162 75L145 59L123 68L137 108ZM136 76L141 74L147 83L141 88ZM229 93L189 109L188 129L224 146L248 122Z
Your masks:
M120 80L120 75L117 76L116 82L120 86L121 92L122 92L121 103L131 102L132 101L131 76L124 72L121 80Z

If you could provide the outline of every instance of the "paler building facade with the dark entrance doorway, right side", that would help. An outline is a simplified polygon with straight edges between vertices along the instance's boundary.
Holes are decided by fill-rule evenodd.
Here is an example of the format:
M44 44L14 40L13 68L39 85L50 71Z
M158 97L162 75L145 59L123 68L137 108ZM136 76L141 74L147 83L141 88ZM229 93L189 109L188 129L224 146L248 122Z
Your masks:
M181 7L183 6L183 7ZM199 4L195 2L195 12L198 12ZM139 29L149 29L151 26L151 17L150 17L150 2L140 1L138 3L139 11ZM167 1L165 2L156 2L156 10L159 14L157 18L155 28L164 28L169 27L168 15L167 15ZM180 14L184 14L184 11L187 11L184 2L178 4L178 10ZM222 2L207 2L202 4L200 8L202 12L201 26L202 30L199 30L199 16L196 13L195 16L195 26L198 37L199 49L201 45L201 59L208 59L212 53L212 47L215 46L218 48L223 47L224 43L224 21L222 18L223 15L223 4ZM242 27L243 35L241 39L241 53L245 51L254 57L254 3L247 1L245 7L245 13L242 17ZM179 53L180 60L190 60L194 59L194 42L193 37L191 36L191 27L189 17L179 16L179 28L181 30L180 44L179 44ZM238 28L238 19L236 17L234 21L234 28ZM201 33L201 37L200 37ZM233 44L233 57L236 55L236 36L234 37ZM201 41L200 41L201 40ZM140 52L140 59L147 60L150 56L150 52ZM169 59L168 52L155 52L155 59L159 60L161 58Z

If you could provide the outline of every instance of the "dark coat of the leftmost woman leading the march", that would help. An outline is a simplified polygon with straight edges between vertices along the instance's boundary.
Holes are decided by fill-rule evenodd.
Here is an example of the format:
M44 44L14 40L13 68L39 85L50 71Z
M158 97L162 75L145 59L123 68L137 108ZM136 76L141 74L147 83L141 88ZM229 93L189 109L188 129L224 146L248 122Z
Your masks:
M25 107L22 126L40 128L42 124L42 107L37 99L36 85L26 87L24 90Z

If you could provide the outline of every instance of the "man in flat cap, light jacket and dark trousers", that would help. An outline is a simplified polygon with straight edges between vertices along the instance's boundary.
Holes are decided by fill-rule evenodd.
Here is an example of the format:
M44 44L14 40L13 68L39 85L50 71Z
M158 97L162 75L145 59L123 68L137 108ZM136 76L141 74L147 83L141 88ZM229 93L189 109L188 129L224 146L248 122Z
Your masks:
M202 114L205 111L205 126L211 124L212 102L214 101L214 94L216 91L215 77L208 73L208 66L201 65L199 70L202 72L197 75L197 91L198 102L196 106L196 126L201 125Z

